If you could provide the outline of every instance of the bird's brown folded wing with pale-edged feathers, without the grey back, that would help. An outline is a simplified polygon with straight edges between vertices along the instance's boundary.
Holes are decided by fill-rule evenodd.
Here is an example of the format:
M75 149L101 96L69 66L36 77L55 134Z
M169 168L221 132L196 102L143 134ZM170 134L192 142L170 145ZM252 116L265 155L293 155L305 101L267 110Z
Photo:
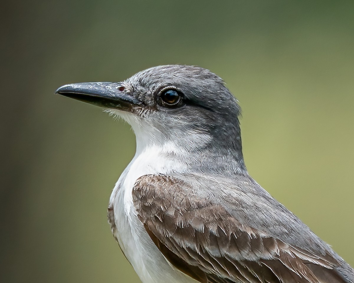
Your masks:
M329 253L313 254L241 224L186 182L139 178L133 202L149 236L173 266L202 283L345 283Z

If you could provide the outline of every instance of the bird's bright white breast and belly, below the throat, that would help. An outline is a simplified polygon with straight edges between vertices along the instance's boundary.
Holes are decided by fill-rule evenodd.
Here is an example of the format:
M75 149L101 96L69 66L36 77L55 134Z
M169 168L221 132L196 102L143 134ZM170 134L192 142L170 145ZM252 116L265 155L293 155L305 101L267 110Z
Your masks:
M185 169L183 162L173 157L167 158L166 154L172 148L176 150L171 146L149 146L137 152L116 183L110 198L109 207L114 210L116 226L114 236L143 283L196 282L167 262L139 221L132 201L132 188L139 177L182 172Z

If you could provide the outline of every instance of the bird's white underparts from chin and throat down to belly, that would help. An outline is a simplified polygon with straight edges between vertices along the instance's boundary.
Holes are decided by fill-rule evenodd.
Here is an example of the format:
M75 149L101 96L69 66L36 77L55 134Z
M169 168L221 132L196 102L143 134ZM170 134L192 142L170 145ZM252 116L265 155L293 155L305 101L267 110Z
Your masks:
M121 112L117 114L132 126L137 139L137 150L133 160L121 174L110 197L109 206L114 208L115 237L143 283L196 282L171 266L164 258L138 219L132 201L132 189L139 177L147 174L185 172L188 165L183 162L184 158L176 158L176 156L186 156L188 152L183 145L181 146L181 140L178 144L173 143L158 129L145 123L142 125L142 120L139 118ZM210 138L208 135L200 137L204 142L208 138ZM174 140L178 138L174 137ZM174 154L169 154L171 152Z

